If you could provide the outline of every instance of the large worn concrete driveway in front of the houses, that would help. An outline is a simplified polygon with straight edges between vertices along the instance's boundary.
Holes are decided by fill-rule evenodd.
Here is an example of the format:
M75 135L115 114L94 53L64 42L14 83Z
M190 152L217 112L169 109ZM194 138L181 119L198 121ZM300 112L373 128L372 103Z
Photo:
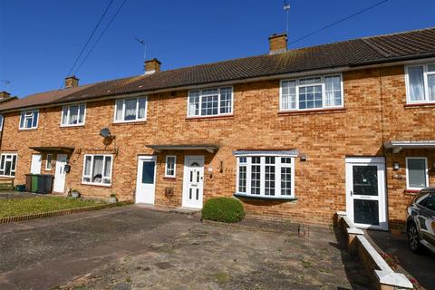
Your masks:
M295 225L270 232L109 208L1 225L0 289L366 288L340 245L324 227L298 237Z

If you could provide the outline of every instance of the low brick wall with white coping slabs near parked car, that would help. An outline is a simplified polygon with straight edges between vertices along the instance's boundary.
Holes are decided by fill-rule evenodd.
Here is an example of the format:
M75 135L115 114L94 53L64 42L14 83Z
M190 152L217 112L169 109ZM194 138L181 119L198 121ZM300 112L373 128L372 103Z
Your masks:
M349 252L359 257L377 289L413 289L411 281L405 275L392 271L387 262L364 237L364 232L355 227L345 213L337 213L337 224L348 237Z

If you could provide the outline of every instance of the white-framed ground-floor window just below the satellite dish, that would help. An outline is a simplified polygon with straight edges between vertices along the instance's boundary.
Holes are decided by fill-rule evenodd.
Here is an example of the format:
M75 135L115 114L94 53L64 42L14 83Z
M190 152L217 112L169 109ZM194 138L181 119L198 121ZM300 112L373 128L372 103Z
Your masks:
M84 156L82 182L94 185L111 185L111 155Z

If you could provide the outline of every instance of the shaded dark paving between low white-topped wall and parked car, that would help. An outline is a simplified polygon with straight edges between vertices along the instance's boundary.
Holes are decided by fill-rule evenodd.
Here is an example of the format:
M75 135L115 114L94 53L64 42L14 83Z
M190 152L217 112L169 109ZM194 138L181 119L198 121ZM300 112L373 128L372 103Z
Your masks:
M394 257L398 272L409 274L420 284L420 289L435 289L435 255L429 250L415 254L408 246L406 234L391 235L390 232L368 230L375 247Z

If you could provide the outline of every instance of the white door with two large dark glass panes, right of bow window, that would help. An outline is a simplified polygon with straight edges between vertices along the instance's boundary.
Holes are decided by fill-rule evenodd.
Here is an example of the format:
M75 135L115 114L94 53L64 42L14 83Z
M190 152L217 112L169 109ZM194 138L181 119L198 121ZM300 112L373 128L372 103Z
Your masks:
M346 214L356 227L388 229L383 157L346 158Z

